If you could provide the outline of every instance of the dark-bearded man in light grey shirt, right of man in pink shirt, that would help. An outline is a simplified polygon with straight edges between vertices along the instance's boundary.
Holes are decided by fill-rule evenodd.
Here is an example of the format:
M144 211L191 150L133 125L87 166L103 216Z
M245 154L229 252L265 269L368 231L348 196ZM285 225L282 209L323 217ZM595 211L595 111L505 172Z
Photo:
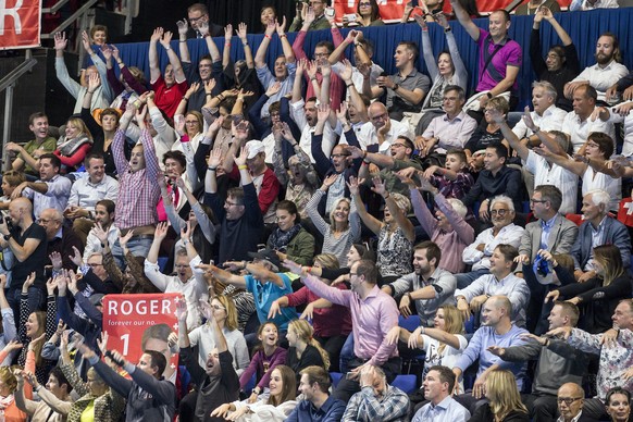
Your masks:
M437 308L455 303L455 276L439 268L442 250L431 240L423 241L413 249L413 272L402 275L382 290L400 299L400 313L410 316L414 305L421 325L433 326Z

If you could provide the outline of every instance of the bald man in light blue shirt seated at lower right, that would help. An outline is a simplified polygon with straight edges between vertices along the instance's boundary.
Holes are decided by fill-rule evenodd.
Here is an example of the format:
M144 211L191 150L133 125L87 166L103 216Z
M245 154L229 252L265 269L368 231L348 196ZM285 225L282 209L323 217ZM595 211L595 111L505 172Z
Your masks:
M512 323L512 303L510 300L506 296L491 296L482 308L482 326L474 333L468 347L452 368L456 381L459 381L463 371L479 359L476 380L472 390L455 397L471 413L474 413L479 407L477 405L481 402L479 400L485 398L486 378L491 371L499 368L511 371L517 378L517 387L521 390L528 369L528 362L502 362L501 358L488 351L491 346L510 347L525 344L523 335L529 333Z

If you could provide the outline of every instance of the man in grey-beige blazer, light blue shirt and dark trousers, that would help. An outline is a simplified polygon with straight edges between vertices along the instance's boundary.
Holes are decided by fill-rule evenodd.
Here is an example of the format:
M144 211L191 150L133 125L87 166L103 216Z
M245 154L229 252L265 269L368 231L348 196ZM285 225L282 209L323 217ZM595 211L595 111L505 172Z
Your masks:
M519 246L519 262L522 265L532 265L538 250L545 249L549 253L570 253L578 237L578 226L558 212L562 203L562 193L554 185L539 185L534 188L530 200L530 208L538 221L525 226ZM519 266L519 273L523 273L523 266ZM530 270L530 269L528 269ZM534 275L530 271L530 275ZM534 276L525 276L532 295L526 309L528 330L538 334L547 331L547 316L550 306L543 305L545 295L554 284L544 285L536 282Z

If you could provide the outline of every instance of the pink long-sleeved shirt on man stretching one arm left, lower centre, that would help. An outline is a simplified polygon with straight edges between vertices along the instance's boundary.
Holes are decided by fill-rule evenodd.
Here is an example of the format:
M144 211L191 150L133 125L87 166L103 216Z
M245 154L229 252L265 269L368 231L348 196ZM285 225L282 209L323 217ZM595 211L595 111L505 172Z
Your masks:
M312 275L305 277L303 283L320 297L351 310L353 353L358 358L381 367L398 356L397 345L386 342L388 331L398 325L400 314L393 297L374 286L363 300L355 291L331 287Z

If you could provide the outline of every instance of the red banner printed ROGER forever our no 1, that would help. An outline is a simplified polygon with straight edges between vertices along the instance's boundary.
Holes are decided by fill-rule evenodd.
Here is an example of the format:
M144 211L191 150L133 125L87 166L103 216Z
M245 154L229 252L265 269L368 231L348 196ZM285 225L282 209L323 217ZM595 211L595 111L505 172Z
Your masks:
M2 0L0 0L2 1ZM176 293L156 295L107 295L103 298L103 331L108 349L117 350L137 363L144 350L160 351L167 358L165 377L178 364L166 345L170 333L178 333ZM170 369L172 371L170 371Z

